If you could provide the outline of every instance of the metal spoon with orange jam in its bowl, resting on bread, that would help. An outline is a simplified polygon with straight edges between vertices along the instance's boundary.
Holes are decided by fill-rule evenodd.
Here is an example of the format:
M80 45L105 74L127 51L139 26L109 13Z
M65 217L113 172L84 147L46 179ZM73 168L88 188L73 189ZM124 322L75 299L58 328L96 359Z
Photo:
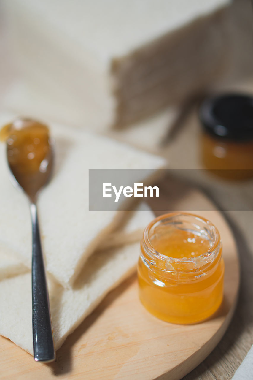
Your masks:
M38 126L41 126L41 129ZM34 128L36 129L36 127L42 133L40 133L39 137L34 137L36 135L36 131L34 135ZM47 131L47 136L43 135L43 128L46 128L44 132L46 133ZM25 143L25 139L27 139L28 145ZM41 147L41 139L44 139L46 149L43 148L44 153L43 149L40 150L39 157L37 157L38 170L35 170L36 161L33 160L36 158L36 148L38 150ZM34 142L34 146L30 142ZM30 201L32 217L33 356L35 361L50 362L55 359L54 337L36 200L39 191L51 177L53 165L52 141L49 139L48 129L45 125L31 119L16 119L9 124L6 145L11 180L15 187L24 190ZM26 152L25 149L29 150ZM24 152L26 153L24 154ZM41 158L43 159L41 160Z

